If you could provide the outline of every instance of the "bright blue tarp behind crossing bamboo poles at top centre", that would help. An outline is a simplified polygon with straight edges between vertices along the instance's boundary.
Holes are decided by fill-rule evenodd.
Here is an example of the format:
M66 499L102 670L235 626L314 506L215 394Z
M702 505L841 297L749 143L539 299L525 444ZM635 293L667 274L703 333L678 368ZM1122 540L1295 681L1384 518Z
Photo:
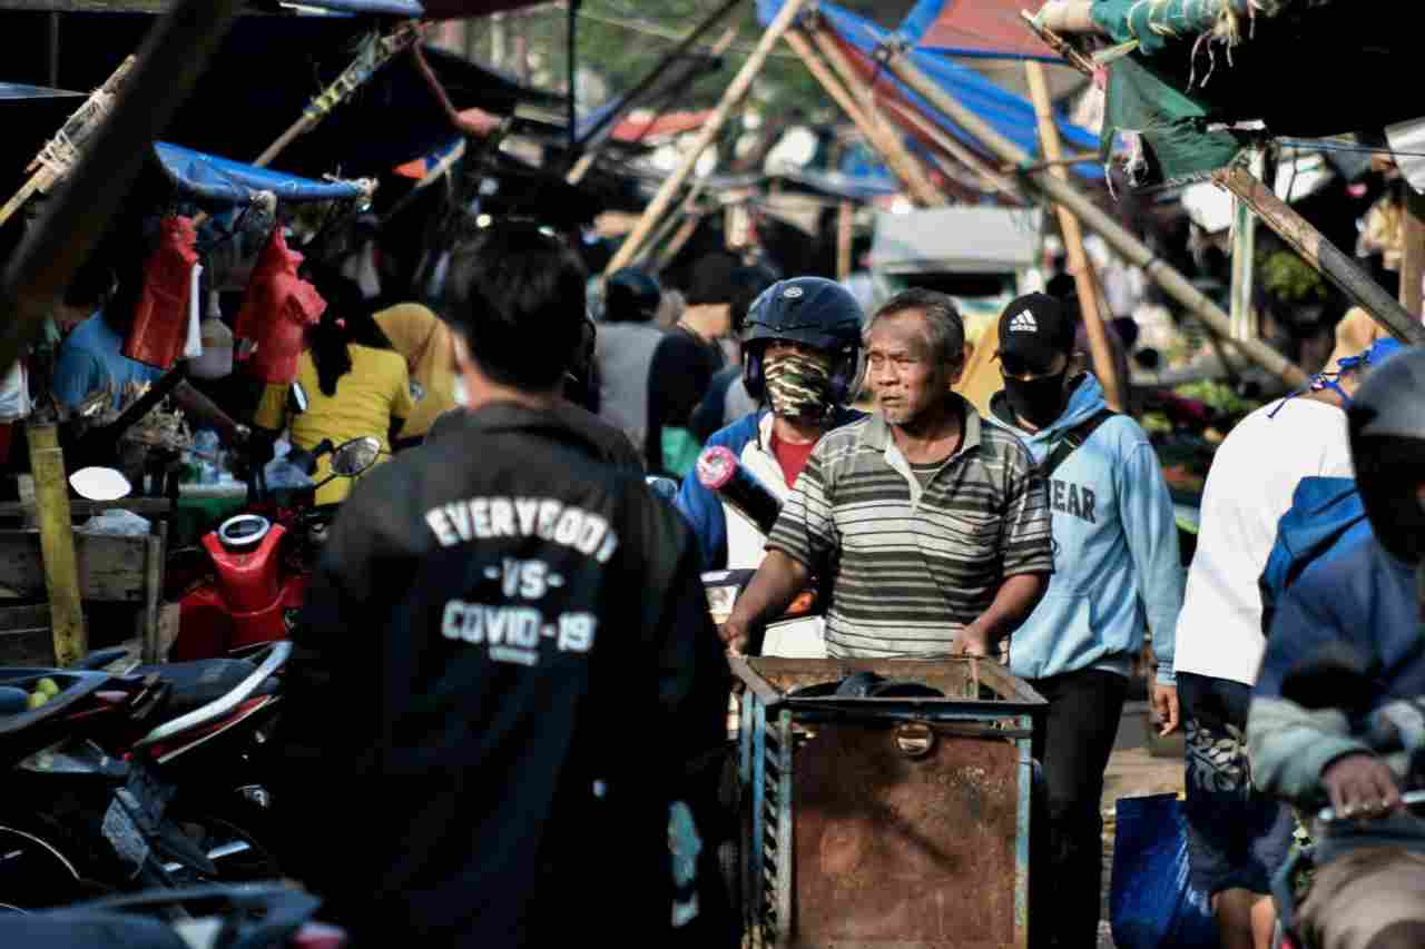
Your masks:
M758 0L757 11L762 21L768 23L771 17L777 16L781 6L782 0ZM818 9L825 17L826 24L842 40L872 61L879 46L895 41L895 36L888 30L831 3L821 3ZM960 66L945 56L926 50L911 50L906 56L911 57L916 68L945 88L956 101L989 123L1000 135L1009 138L1032 155L1039 154L1039 127L1035 118L1035 107L1029 100L1000 88L975 70ZM882 70L876 84L879 88L892 90L899 98L913 105L921 114L929 117L936 125L940 125L965 144L983 151L983 147L972 135L931 107L929 103L912 93L909 87L889 73ZM888 115L895 117L889 110ZM1099 150L1099 137L1089 130L1069 123L1063 115L1057 117L1057 124L1064 151ZM1103 168L1097 164L1074 165L1073 170L1086 178L1103 177Z

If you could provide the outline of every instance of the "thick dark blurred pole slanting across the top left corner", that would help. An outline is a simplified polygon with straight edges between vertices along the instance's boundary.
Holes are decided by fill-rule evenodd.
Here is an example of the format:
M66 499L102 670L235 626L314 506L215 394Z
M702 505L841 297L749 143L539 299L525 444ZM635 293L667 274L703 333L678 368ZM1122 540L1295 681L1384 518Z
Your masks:
M0 282L0 375L36 336L130 192L152 142L188 97L244 0L177 0L144 40L113 113Z

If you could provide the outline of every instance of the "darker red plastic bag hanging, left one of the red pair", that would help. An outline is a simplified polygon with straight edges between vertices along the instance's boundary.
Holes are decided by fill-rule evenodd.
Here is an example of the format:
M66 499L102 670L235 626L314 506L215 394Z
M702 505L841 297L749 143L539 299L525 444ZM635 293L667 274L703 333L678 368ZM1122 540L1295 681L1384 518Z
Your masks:
M171 369L188 341L188 296L198 264L192 218L168 217L158 247L144 264L144 289L134 305L134 325L124 341L130 359Z

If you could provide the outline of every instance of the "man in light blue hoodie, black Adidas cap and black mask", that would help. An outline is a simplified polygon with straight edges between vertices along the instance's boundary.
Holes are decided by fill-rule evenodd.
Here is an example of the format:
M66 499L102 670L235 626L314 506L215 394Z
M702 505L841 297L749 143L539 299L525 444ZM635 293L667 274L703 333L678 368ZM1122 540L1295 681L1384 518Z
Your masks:
M1010 671L1049 700L1040 759L1049 788L1053 945L1097 940L1103 861L1099 798L1133 657L1153 630L1163 734L1177 728L1173 633L1183 606L1173 500L1133 419L1110 412L1074 346L1074 323L1045 294L999 321L1003 392L995 422L1017 435L1046 480L1054 573L1009 647Z

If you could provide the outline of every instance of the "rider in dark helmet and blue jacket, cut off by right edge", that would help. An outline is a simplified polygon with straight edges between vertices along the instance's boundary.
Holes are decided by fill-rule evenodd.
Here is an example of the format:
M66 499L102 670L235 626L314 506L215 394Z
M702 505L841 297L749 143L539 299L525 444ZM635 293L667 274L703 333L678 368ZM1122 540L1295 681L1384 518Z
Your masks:
M1425 945L1425 349L1375 369L1347 409L1371 534L1282 596L1247 721L1254 782L1341 821L1292 929L1321 949Z

